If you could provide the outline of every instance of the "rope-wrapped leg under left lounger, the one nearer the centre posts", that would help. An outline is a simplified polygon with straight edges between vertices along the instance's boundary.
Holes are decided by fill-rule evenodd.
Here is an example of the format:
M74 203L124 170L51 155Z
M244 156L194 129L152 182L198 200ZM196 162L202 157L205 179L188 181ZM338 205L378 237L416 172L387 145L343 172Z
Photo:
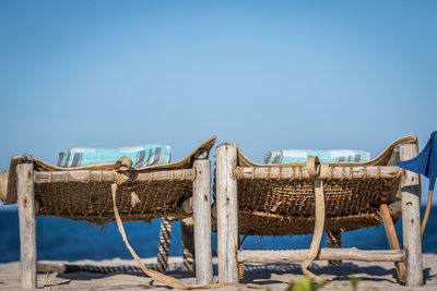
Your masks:
M180 220L182 260L185 271L194 271L194 227L191 218Z

